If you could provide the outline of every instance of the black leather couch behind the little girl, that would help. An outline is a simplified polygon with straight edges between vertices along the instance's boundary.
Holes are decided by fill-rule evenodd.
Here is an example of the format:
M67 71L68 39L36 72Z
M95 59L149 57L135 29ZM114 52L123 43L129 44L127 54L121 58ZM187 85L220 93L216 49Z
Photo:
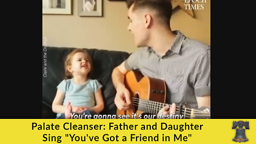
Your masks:
M57 85L64 76L64 62L69 52L74 47L51 47L43 46L43 95L42 110L43 118L55 118L56 114L52 111L52 101L57 92ZM129 53L122 51L108 51L98 49L84 49L91 55L93 60L93 79L97 79L102 86L102 96L105 108L100 114L116 114L114 98L115 87L111 79L111 73L115 67L120 65L129 57Z

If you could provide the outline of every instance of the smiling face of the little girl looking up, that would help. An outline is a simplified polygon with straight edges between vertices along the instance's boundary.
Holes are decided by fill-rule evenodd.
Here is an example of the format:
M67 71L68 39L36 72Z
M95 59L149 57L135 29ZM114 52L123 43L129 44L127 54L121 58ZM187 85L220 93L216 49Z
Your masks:
M68 66L68 71L75 75L88 75L91 71L91 64L89 56L83 52L77 52L74 54L71 66Z

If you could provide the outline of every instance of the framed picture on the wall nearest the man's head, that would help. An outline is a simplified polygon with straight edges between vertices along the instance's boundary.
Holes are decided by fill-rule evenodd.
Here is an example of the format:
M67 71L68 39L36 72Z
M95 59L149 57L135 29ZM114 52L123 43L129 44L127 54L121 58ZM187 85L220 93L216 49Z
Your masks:
M78 0L78 15L102 17L102 0Z

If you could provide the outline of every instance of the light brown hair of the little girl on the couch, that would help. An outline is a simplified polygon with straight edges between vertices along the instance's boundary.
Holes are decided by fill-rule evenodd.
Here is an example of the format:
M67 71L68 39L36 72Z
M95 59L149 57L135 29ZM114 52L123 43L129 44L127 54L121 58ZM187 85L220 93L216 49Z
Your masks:
M91 58L90 54L89 54L87 51L83 50L83 49L75 49L75 50L73 50L72 52L70 52L70 53L67 55L67 58L66 58L66 61L65 61L65 79L73 78L73 75L72 75L72 73L70 73L70 72L68 71L67 66L71 66L71 61L72 61L74 55L75 55L76 53L78 53L78 52L82 52L82 53L84 53L84 54L88 57L88 60L89 60L89 62L90 62L90 64L91 64L91 70L90 70L90 72L89 72L89 74L88 74L88 77L89 77L89 78L92 77L93 65L92 65L92 58Z

